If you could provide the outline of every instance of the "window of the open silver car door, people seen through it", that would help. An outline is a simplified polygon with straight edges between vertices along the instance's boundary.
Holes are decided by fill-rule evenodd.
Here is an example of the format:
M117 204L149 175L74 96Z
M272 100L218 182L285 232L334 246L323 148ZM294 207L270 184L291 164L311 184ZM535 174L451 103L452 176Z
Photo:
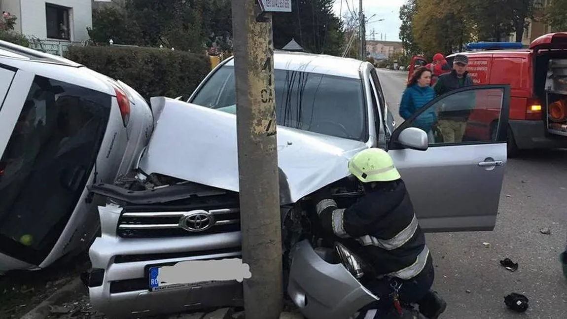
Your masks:
M448 93L408 119L428 134L430 147L497 142L503 88L474 88Z

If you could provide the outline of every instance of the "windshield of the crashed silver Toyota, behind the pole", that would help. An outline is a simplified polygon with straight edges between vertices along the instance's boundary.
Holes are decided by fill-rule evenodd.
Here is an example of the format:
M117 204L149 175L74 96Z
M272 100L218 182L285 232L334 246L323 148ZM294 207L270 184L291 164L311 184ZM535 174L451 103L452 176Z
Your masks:
M360 80L287 70L275 70L275 79L279 125L366 142L366 107ZM215 71L189 102L235 113L234 67Z

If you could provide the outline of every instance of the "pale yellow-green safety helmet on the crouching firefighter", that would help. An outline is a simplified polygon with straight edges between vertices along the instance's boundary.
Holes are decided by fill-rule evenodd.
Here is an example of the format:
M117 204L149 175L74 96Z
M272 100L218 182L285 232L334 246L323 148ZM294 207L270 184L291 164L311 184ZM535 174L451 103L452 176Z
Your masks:
M349 160L349 172L362 182L388 182L401 176L390 155L380 148L366 148Z

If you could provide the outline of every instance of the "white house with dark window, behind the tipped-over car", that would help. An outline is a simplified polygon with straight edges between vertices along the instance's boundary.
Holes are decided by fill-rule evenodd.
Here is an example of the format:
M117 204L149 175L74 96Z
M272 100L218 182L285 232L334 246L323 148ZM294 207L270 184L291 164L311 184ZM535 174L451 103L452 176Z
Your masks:
M0 11L15 15L15 31L41 40L88 40L91 0L0 0Z

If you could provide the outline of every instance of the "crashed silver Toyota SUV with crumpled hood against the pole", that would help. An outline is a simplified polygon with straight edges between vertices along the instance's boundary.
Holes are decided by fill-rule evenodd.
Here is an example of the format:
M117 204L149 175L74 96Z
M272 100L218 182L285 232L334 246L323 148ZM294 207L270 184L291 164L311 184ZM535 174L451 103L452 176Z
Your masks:
M341 205L356 201L361 192L346 164L364 148L391 154L425 231L494 228L508 86L455 90L395 127L370 63L276 52L274 65L284 278L305 316L342 318L373 298L328 258L310 198L332 185ZM428 144L426 132L412 127L429 108L466 107L455 103L471 95L463 141ZM155 129L138 168L91 189L109 198L99 207L101 237L90 249L91 304L113 318L242 305L236 277L197 270L202 261L224 265L241 256L234 59L215 67L187 103L153 97L151 106ZM494 114L500 121L490 139L480 133ZM181 263L185 272L172 279L169 266Z

